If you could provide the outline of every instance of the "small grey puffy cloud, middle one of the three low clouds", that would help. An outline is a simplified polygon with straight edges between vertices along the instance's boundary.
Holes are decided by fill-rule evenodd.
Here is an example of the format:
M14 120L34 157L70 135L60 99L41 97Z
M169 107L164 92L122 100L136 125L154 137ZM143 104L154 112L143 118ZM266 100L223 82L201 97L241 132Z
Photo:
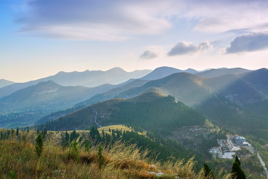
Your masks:
M168 52L168 56L194 54L207 50L211 47L212 45L210 45L208 41L203 41L197 45L194 45L192 42L182 41L173 45L171 50Z

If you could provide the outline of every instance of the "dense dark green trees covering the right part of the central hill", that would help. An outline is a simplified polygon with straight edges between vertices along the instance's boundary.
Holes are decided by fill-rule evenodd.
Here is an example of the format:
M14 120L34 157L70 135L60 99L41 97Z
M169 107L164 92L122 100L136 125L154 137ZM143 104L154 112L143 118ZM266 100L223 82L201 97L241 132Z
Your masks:
M109 122L144 129L160 128L169 132L182 126L203 125L205 122L201 113L182 102L176 102L170 95L154 101L123 101L115 106Z

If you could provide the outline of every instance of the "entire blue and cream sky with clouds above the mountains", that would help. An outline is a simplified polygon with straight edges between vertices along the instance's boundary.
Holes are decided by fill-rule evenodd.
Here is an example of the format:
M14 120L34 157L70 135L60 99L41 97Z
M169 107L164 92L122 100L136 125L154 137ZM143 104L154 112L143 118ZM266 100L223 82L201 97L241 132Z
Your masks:
M0 0L0 79L268 68L267 0Z

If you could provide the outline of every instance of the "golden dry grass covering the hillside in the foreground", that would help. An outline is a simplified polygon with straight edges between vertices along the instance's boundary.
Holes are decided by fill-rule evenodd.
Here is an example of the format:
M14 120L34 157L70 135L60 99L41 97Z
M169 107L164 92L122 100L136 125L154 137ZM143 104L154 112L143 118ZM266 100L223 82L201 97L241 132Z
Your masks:
M195 172L193 159L148 164L146 152L135 145L117 142L101 152L99 145L86 150L82 142L64 148L55 142L59 136L55 133L44 141L40 157L35 152L36 131L20 131L0 140L1 179L210 179L203 170ZM159 172L164 174L156 176ZM219 172L214 179L231 176Z

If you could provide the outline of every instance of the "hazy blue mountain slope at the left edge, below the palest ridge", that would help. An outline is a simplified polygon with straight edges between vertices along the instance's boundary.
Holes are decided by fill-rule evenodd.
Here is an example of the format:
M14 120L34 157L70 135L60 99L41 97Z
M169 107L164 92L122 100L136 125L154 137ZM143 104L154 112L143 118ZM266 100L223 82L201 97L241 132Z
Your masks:
M0 126L29 125L51 112L71 107L110 88L111 85L86 88L63 87L53 81L40 82L0 99Z

